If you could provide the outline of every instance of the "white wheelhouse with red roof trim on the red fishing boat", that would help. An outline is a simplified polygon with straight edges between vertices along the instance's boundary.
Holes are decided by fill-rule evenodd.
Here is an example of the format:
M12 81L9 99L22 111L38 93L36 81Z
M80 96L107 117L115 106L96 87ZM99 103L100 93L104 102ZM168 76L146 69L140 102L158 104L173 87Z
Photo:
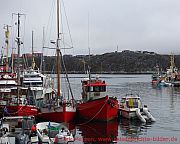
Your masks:
M82 99L83 101L89 101L94 99L99 99L106 96L106 86L105 81L99 78L95 79L84 79L82 83Z

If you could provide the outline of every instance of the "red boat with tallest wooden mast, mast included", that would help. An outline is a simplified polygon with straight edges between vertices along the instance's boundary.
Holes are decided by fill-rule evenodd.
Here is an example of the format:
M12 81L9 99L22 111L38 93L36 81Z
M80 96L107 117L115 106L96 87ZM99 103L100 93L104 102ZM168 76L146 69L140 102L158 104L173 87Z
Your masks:
M57 0L57 41L56 41L56 53L57 53L57 91L53 94L45 95L43 105L40 108L40 112L37 115L37 118L51 121L51 122L69 122L73 121L76 115L76 106L75 100L70 88L69 79L66 75L69 90L72 96L72 99L66 99L60 90L60 57L62 53L60 50L60 29L59 29L59 0ZM62 59L63 60L63 59ZM62 61L64 64L64 61Z

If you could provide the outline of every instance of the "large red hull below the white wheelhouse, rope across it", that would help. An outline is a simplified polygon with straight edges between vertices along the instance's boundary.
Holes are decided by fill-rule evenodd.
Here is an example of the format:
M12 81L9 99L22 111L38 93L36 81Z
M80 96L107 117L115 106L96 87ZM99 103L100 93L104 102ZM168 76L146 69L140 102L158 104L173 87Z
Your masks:
M109 121L118 115L118 101L104 97L77 106L78 115L88 120Z

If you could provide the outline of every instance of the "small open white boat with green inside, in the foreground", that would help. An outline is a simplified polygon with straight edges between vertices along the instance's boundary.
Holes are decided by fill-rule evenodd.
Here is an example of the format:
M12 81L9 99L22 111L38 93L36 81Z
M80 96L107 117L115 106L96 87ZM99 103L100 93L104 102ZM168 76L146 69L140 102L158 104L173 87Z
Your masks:
M40 142L49 144L69 143L74 141L72 133L62 123L40 122L36 124Z

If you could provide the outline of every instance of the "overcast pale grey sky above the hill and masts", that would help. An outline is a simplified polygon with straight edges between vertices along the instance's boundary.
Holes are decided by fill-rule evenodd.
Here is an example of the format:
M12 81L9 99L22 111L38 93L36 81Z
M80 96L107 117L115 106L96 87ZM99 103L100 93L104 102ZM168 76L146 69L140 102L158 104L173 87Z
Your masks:
M1 0L0 46L4 45L4 24L14 25L17 17L12 13L19 12L26 14L21 17L23 51L30 52L32 30L35 50L41 51L43 27L46 45L56 38L55 4L55 0ZM117 45L119 51L180 54L180 0L64 0L64 4L74 45L66 53L88 54L89 15L93 54L115 51Z

